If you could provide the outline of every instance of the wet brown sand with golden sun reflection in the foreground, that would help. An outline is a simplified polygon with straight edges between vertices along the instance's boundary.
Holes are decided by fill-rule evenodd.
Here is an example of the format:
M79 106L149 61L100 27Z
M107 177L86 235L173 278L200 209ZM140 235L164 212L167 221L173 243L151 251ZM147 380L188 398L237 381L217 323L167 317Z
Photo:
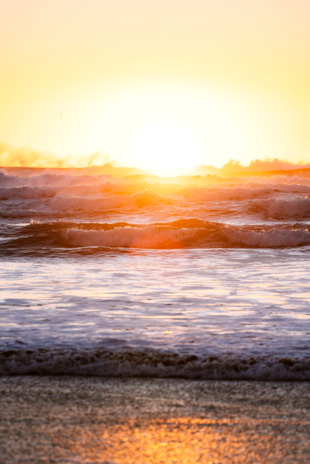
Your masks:
M0 462L309 464L310 383L0 378Z

